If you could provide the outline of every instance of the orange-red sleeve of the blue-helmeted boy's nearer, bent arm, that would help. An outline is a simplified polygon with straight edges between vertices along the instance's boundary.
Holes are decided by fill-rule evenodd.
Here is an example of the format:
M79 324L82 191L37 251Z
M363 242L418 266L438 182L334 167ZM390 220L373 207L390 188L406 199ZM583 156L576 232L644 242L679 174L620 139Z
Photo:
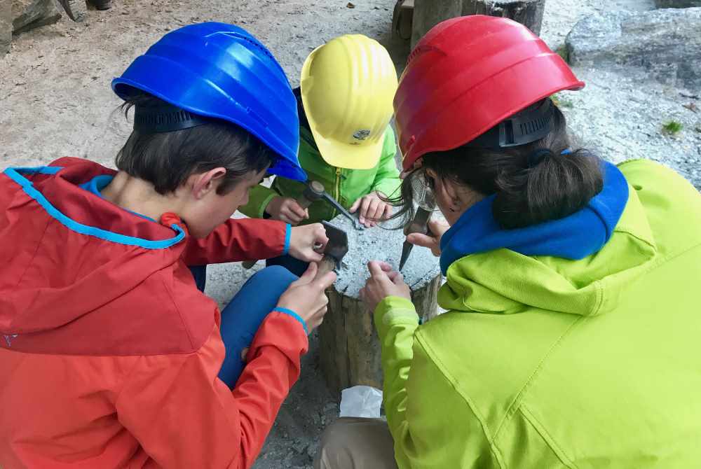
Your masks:
M196 353L139 357L118 395L118 419L159 467L250 468L307 349L299 321L268 314L231 391L217 378L224 344L215 326Z

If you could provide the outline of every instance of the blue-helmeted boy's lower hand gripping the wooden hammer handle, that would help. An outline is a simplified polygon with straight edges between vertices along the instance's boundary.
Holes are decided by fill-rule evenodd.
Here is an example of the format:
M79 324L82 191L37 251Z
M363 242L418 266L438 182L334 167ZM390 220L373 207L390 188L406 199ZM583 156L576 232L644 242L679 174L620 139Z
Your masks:
M278 300L278 307L292 309L304 320L307 330L311 332L324 320L329 299L324 290L336 281L336 274L329 272L314 279L318 266L312 262L304 275L290 283L285 293Z

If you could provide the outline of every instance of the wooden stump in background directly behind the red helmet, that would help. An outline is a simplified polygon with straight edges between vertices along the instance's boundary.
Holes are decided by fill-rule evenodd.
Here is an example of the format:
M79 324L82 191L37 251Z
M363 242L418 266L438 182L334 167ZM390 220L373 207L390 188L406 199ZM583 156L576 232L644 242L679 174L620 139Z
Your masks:
M438 23L464 15L510 18L540 34L545 0L415 0L411 47Z

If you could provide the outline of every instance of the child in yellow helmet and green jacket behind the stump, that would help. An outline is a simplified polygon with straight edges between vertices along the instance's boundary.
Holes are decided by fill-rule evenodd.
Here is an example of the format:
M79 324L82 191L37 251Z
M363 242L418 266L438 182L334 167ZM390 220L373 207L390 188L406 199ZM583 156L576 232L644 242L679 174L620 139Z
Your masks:
M374 39L347 34L313 50L294 90L299 113L299 162L310 181L322 183L332 197L371 227L391 214L382 197L400 186L397 145L389 125L397 72L389 53ZM320 200L303 209L297 198L305 184L275 178L271 188L251 190L240 211L252 218L273 218L292 225L331 220L338 212ZM287 262L287 261L290 262ZM271 259L304 272L294 259Z

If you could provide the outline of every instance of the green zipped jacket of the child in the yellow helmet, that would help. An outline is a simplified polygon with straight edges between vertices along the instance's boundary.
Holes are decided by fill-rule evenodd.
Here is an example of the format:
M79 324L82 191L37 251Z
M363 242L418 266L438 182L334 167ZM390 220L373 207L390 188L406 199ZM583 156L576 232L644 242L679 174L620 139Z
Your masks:
M372 169L343 169L330 166L321 158L316 149L311 132L299 127L299 163L307 172L311 181L319 181L327 193L350 209L355 200L374 190L384 195L393 195L400 186L399 170L395 162L397 143L392 127L388 126L380 161ZM275 178L271 188L257 186L251 189L250 200L239 211L251 218L263 218L264 211L273 197L282 195L297 199L304 191L304 183L291 179ZM320 200L309 207L309 219L306 223L331 220L338 215L331 204Z

